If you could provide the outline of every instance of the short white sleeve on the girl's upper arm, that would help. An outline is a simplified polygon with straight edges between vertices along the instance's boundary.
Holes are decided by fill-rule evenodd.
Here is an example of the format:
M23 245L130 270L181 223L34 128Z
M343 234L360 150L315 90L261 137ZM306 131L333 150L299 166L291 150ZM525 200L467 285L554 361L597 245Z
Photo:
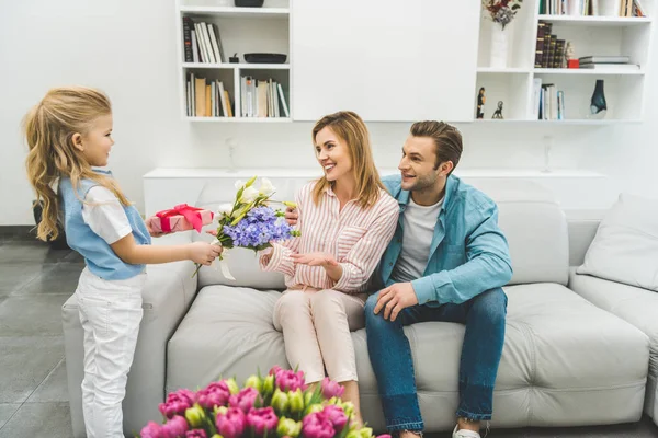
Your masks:
M87 192L82 204L82 219L109 245L133 232L121 201L109 188L100 185Z

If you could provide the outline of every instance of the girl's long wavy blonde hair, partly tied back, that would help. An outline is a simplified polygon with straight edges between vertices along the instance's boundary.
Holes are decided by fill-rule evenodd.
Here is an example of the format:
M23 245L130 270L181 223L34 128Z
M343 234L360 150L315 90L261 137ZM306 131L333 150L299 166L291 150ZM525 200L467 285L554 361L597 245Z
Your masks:
M43 201L37 238L54 240L59 234L57 217L59 200L54 185L68 176L78 189L81 180L92 180L106 187L124 205L129 205L114 180L95 173L80 150L73 146L73 135L86 135L98 117L112 114L110 99L101 91L69 87L52 89L25 115L23 128L30 152L25 160L30 184L36 200Z

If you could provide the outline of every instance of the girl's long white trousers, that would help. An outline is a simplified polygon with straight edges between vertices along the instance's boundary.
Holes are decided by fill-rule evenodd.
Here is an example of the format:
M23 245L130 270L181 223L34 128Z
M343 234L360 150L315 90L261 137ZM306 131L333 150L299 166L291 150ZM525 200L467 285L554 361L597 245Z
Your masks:
M82 411L89 438L123 438L122 402L141 321L146 274L104 280L82 270L76 297L84 331Z

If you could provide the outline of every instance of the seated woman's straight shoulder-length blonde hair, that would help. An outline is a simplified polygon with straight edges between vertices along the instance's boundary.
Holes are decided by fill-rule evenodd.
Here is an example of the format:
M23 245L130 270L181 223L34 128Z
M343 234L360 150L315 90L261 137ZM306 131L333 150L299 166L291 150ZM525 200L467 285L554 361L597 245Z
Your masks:
M352 160L352 174L356 181L356 198L362 208L370 208L379 199L379 189L384 188L370 142L367 128L361 117L351 111L341 111L320 118L313 127L313 142L320 130L329 127L336 136L345 142ZM319 203L322 193L331 185L326 176L316 183L313 198Z

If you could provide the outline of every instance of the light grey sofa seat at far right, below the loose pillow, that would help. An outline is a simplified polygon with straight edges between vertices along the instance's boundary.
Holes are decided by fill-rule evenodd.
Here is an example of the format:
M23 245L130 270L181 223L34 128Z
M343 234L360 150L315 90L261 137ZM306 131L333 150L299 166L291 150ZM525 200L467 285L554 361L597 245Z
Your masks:
M569 288L599 308L629 322L649 337L649 374L658 376L658 293L580 275L571 268Z

